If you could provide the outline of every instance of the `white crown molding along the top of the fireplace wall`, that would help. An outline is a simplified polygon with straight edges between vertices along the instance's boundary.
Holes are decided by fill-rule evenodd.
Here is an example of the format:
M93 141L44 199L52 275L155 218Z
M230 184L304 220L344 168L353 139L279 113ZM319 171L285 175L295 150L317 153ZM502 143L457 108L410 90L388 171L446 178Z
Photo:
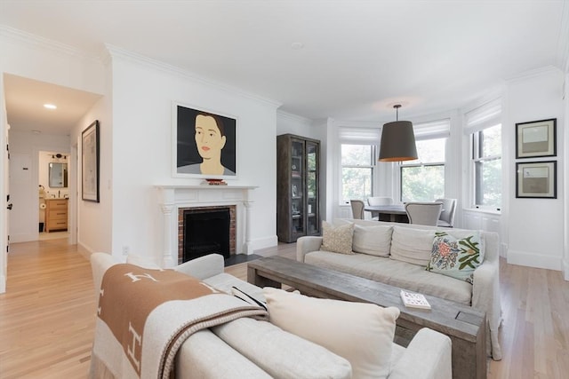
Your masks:
M263 98L259 95L254 94L254 93L243 91L237 87L233 87L233 86L230 86L230 85L225 84L225 83L215 82L215 81L212 81L210 79L206 79L203 76L196 75L195 73L192 73L186 69L176 67L176 66L170 65L168 63L164 63L164 62L157 60L157 59L151 59L151 58L145 57L145 56L138 54L136 52L124 50L120 47L116 47L116 46L109 44L109 43L105 43L105 47L108 50L108 54L110 55L111 59L113 59L113 58L125 59L125 60L132 62L132 63L139 64L141 66L145 66L145 67L149 67L152 69L156 69L158 71L162 71L166 74L177 75L177 76L180 76L184 79L189 79L189 80L192 80L192 81L195 81L198 83L203 83L205 85L217 87L221 91L227 91L227 92L231 92L234 94L236 93L237 95L240 95L246 99L253 99L255 101L260 101L260 102L266 103L270 107L277 108L277 107L280 107L282 105L282 103L277 102L276 100Z

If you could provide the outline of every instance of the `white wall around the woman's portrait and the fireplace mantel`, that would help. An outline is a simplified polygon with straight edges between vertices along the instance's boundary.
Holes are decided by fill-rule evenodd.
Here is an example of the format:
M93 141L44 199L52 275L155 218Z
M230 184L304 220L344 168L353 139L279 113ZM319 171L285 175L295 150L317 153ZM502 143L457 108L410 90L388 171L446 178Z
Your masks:
M202 181L172 178L172 101L236 118L237 179L227 181L259 186L252 191L252 247L275 246L278 105L125 51L111 54L113 254L127 248L154 257L162 247L163 222L155 186Z

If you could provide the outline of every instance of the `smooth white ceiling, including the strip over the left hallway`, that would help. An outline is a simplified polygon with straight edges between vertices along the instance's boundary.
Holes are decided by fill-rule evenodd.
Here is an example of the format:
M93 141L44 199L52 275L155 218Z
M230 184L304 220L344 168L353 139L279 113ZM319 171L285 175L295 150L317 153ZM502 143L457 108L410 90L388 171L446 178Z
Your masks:
M92 56L108 43L275 100L281 110L309 119L385 122L397 103L400 118L433 114L529 71L565 70L569 4L0 0L0 25ZM12 128L70 128L97 99L6 76ZM37 109L56 100L55 112Z

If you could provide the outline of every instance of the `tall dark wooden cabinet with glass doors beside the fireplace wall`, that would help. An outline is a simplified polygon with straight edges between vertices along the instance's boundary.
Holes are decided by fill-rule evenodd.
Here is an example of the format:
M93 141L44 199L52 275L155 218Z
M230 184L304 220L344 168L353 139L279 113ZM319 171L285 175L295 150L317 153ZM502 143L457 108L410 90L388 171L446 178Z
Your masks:
M293 134L276 137L276 234L294 242L320 235L320 141Z

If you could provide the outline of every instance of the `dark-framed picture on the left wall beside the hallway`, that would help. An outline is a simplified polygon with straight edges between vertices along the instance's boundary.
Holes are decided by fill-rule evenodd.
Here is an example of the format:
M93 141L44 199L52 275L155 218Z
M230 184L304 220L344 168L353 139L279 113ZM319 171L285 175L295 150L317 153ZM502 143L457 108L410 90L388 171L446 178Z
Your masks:
M99 120L81 133L81 196L84 201L100 201Z

